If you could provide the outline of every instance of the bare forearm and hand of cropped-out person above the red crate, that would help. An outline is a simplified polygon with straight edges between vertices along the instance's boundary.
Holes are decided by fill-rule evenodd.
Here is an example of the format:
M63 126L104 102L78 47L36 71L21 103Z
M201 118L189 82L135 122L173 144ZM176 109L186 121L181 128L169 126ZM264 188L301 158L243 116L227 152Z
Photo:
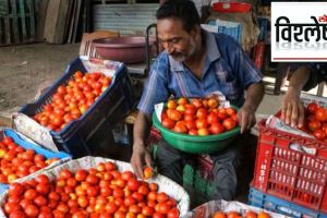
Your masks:
M311 69L302 65L292 74L289 88L282 99L281 119L291 126L304 124L304 107L300 100L301 90L310 78Z

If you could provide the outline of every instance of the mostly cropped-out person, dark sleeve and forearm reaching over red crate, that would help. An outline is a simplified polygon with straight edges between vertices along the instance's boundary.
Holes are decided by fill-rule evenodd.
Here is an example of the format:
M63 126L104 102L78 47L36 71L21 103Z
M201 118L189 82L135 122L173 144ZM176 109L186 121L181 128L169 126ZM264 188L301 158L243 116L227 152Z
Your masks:
M282 99L281 119L291 126L304 125L304 107L300 100L301 90L310 90L327 81L327 63L294 63L288 90Z

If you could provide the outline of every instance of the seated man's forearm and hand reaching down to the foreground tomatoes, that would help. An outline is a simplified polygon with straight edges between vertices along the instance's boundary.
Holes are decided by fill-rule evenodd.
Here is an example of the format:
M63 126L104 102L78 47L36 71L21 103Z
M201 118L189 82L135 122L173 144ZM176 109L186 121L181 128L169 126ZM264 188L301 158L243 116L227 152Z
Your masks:
M146 138L152 126L150 118L140 111L133 129L133 155L131 164L137 177L143 178L143 167L152 166L152 156L146 147Z

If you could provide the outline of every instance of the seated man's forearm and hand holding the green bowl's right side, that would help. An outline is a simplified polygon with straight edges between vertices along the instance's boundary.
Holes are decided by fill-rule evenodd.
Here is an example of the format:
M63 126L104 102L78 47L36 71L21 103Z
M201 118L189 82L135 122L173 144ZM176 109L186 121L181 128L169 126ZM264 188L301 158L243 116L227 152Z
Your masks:
M253 83L246 89L245 102L238 112L241 124L241 133L250 130L255 124L255 111L262 102L265 94L263 82Z

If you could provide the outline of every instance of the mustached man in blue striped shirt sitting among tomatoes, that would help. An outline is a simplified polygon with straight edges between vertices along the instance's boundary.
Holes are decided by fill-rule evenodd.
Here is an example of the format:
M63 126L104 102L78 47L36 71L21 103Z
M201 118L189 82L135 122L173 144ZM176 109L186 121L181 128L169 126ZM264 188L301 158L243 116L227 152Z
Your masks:
M154 105L167 101L171 95L175 98L205 97L220 90L228 100L241 107L238 119L241 132L245 133L255 123L254 113L264 95L262 75L253 62L231 37L202 29L191 0L168 0L156 17L159 43L165 51L152 66L134 124L131 164L138 177L143 175L145 165L152 166L145 142ZM231 199L237 187L237 146L210 154L210 157L216 183L213 198ZM189 158L192 158L190 154L174 149L165 141L159 142L156 159L159 173L182 184L182 170Z

